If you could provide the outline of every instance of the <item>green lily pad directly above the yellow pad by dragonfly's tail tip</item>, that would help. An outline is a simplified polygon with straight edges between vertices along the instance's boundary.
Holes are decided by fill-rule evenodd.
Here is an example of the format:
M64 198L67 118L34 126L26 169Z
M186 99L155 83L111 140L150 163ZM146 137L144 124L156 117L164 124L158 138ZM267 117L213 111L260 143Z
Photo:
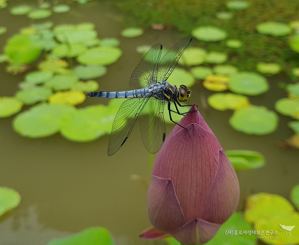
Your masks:
M70 89L78 81L73 75L55 75L51 80L45 83L45 86L53 88L54 90Z

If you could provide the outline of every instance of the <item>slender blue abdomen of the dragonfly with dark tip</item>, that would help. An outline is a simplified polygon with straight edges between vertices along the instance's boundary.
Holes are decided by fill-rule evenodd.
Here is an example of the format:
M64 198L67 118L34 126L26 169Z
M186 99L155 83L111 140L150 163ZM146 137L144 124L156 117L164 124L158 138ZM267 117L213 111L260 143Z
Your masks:
M101 97L101 98L143 98L150 91L151 89L148 88L125 90L125 91L96 91L96 92L86 93L86 96Z

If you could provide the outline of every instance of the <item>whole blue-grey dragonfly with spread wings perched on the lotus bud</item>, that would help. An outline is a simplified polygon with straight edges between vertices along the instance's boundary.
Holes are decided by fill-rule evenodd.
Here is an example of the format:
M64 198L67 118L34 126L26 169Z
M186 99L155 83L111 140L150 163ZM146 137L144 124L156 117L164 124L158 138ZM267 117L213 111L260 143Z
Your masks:
M152 46L131 75L129 81L131 90L86 93L89 97L128 98L121 104L113 121L108 144L109 156L116 153L128 139L138 117L143 144L150 153L156 153L165 140L166 129L163 116L165 103L167 102L172 122L174 120L171 112L181 115L188 113L180 113L178 106L190 106L181 104L190 98L190 90L185 85L172 86L167 82L167 78L191 40L192 36L183 38L161 59L162 44ZM171 103L174 103L175 110L170 108ZM174 123L179 125L177 122ZM187 129L186 131L188 132Z

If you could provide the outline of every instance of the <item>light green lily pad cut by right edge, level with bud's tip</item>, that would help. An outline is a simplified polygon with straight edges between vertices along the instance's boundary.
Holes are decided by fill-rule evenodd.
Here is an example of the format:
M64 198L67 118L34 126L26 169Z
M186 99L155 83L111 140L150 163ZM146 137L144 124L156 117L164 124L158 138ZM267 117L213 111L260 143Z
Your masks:
M276 101L275 110L285 116L299 119L299 103L289 98L282 98Z

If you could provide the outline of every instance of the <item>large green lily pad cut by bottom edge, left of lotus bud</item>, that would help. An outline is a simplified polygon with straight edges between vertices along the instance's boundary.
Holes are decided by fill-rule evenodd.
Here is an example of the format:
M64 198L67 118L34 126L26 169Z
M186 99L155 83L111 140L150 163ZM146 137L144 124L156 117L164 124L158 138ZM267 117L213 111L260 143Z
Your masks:
M66 238L53 239L47 245L114 245L109 231L104 227L89 227Z

